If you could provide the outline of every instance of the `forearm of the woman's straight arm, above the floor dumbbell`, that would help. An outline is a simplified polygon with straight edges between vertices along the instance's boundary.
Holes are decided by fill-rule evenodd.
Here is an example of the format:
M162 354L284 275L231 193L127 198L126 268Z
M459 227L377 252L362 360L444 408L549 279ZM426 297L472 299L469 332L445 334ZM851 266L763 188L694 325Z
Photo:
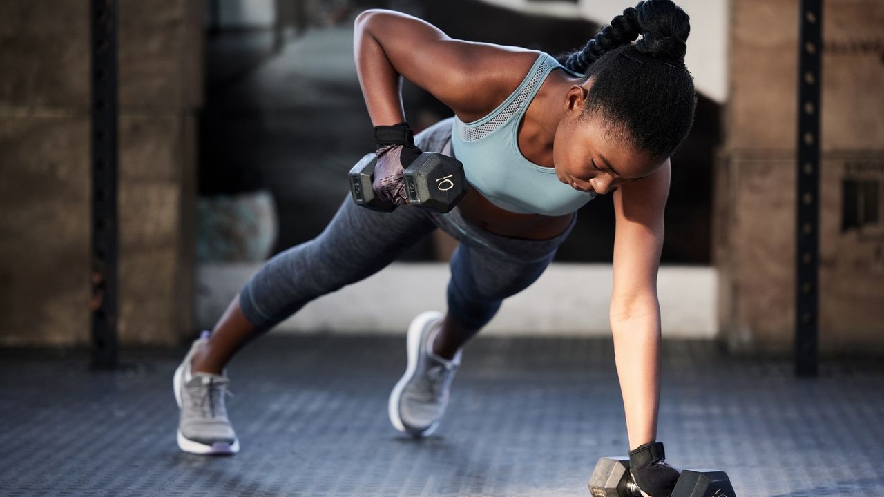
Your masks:
M611 321L617 376L626 411L629 449L657 439L659 310Z

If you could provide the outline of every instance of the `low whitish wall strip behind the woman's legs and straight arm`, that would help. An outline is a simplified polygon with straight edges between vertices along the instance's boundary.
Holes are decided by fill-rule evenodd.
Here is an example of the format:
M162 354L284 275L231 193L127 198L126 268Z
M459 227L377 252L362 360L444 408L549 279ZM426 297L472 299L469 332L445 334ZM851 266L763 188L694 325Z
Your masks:
M200 264L196 278L197 323L211 329L261 265ZM446 309L449 278L446 263L393 263L367 279L309 302L273 333L403 334L418 312ZM397 305L392 309L366 298L385 294L403 280L409 281L408 292L397 294ZM611 264L552 264L536 283L505 300L482 334L609 337L612 284ZM663 336L715 338L716 285L712 267L661 267L657 287Z

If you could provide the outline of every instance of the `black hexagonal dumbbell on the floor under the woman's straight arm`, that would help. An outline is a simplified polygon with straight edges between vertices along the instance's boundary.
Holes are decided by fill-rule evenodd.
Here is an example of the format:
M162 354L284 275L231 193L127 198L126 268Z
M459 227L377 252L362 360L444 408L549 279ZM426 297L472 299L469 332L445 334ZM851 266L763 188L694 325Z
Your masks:
M629 476L629 457L602 457L590 477L592 497L639 497ZM683 470L671 497L735 497L728 474L720 470Z

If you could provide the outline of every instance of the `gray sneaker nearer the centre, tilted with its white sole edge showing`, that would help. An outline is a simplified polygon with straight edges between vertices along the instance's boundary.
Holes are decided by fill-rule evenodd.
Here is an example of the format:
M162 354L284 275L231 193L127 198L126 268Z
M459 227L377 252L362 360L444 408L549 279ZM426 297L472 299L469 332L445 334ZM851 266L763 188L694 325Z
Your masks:
M423 312L408 325L408 368L390 394L390 422L400 432L426 437L436 431L448 405L448 389L461 351L448 361L432 352L442 314Z

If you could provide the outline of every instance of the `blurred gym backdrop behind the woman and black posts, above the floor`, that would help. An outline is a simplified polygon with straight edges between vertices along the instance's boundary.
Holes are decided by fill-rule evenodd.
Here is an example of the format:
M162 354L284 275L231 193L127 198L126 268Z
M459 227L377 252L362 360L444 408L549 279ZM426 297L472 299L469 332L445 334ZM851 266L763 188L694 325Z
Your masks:
M798 3L685 0L697 120L673 157L660 272L664 336L788 355L795 324ZM884 352L884 8L829 0L822 88L820 352ZM453 37L574 50L613 0L164 0L119 3L119 339L169 346L211 327L249 274L320 233L373 149L353 19L414 14ZM0 345L88 345L89 16L0 2ZM481 68L477 68L481 70ZM416 129L451 115L420 88ZM311 303L280 333L400 333L444 306L453 241ZM490 333L606 335L613 210L599 197L550 271ZM365 295L420 274L401 316ZM410 272L409 272L410 271ZM418 272L415 272L418 271ZM530 305L526 305L532 302Z

